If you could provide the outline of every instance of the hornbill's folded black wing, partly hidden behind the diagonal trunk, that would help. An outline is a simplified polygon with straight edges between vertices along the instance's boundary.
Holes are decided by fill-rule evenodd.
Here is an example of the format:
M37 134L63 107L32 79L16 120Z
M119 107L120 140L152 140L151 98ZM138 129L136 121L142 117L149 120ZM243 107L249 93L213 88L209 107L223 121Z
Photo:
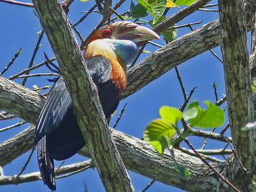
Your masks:
M112 66L106 57L90 57L86 59L86 66L96 86L109 80ZM60 76L48 94L46 104L37 120L35 143L37 144L44 135L55 131L60 126L66 113L72 110L71 96L68 93L63 77Z

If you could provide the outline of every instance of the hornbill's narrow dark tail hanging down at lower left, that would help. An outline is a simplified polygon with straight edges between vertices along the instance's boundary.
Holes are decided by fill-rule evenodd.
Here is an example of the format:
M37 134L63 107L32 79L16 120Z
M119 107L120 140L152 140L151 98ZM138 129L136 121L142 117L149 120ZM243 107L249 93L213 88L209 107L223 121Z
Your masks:
M44 135L44 137L42 137L37 144L37 160L44 184L47 184L50 189L55 191L54 164L53 158L48 154L47 151L46 135Z

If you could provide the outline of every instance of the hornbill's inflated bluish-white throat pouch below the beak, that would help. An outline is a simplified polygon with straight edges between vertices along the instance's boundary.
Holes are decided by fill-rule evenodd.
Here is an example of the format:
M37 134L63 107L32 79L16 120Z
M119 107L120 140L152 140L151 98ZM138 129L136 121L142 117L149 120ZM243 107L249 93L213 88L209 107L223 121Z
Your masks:
M125 62L131 64L138 55L138 46L130 40L104 39L109 43L113 51Z

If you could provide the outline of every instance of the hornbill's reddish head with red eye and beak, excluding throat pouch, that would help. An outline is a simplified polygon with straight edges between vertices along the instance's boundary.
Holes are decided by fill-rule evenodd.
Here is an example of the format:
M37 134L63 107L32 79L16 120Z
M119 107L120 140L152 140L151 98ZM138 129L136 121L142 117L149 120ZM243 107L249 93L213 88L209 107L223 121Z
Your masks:
M160 39L160 37L153 30L139 26L131 21L118 21L95 32L87 44L96 39L124 39L133 41L139 46L143 41Z

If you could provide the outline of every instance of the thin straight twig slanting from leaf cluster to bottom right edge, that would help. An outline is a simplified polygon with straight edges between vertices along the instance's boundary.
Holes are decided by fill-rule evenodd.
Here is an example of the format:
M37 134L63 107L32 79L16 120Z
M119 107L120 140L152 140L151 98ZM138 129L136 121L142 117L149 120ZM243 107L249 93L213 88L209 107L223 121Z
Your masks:
M221 173L219 173L213 166L211 166L211 164L208 163L208 161L205 160L204 157L202 157L202 155L200 155L196 149L194 148L194 146L192 146L192 144L190 143L190 141L188 140L188 138L184 138L184 142L186 144L188 144L188 146L190 146L190 148L194 151L194 153L196 153L196 155L200 158L200 160L205 163L218 177L221 178L221 180L223 180L223 182L226 182L226 184L228 184L228 186L230 186L232 189L234 189L235 191L239 192L239 190L232 184L230 183L226 177L224 177L223 175L221 175Z

